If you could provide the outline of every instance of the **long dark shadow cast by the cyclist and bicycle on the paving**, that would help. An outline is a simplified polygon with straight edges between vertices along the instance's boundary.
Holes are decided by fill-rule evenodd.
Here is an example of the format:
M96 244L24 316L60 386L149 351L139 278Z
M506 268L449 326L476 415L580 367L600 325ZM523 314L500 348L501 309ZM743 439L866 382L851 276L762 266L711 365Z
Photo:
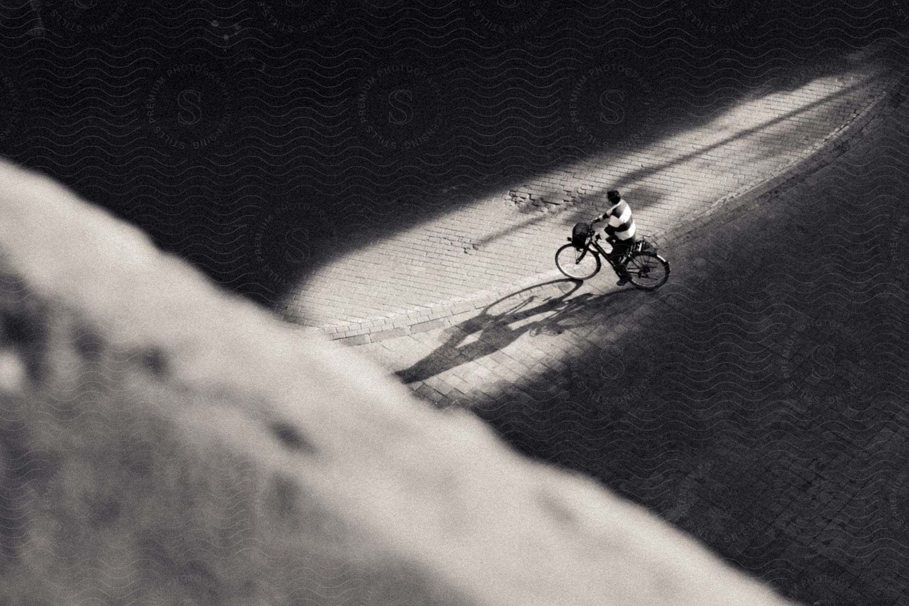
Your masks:
M583 284L579 280L553 280L508 294L484 307L477 315L446 328L442 332L444 343L395 375L405 383L425 381L501 351L525 333L561 334L584 323L588 320L585 316L602 313L604 304L612 303L616 296L634 292L578 293ZM528 294L541 287L552 287L553 290L557 287L561 293L551 296Z

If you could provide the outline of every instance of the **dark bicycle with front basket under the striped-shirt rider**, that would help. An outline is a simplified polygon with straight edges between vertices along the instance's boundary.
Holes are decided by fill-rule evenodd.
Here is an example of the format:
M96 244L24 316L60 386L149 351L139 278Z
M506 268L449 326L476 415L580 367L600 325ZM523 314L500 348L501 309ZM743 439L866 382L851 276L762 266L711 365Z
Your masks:
M634 288L655 291L669 280L669 262L660 256L652 242L653 237L647 237L651 238L651 242L639 238L620 262L624 263ZM613 261L594 238L591 224L575 224L568 242L555 252L555 266L569 278L582 281L593 278L603 266L601 256L615 269Z

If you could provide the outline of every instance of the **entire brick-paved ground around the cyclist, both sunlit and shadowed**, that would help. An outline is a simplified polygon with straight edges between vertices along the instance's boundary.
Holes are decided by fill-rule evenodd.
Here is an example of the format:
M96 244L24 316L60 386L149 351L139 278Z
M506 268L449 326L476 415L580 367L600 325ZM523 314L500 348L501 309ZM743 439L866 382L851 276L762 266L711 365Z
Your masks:
M0 153L805 603L909 601L904 3L45 4ZM657 293L554 272L613 187Z

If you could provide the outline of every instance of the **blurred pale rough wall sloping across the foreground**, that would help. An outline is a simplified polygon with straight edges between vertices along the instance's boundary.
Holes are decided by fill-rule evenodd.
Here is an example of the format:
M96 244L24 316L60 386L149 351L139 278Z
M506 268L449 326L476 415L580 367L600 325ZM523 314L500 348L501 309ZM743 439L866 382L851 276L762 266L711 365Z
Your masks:
M0 164L0 604L782 604Z

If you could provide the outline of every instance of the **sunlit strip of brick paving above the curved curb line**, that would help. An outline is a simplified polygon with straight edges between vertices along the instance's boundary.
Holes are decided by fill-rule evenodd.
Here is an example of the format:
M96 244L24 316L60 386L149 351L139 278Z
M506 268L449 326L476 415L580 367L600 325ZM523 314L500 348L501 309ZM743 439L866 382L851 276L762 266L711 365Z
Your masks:
M642 233L671 232L833 148L874 114L891 83L889 70L861 56L792 90L752 90L709 120L673 124L675 134L593 154L385 233L315 271L289 295L285 314L339 338L445 317L453 302L551 272L570 225L602 212L608 189L624 192Z

